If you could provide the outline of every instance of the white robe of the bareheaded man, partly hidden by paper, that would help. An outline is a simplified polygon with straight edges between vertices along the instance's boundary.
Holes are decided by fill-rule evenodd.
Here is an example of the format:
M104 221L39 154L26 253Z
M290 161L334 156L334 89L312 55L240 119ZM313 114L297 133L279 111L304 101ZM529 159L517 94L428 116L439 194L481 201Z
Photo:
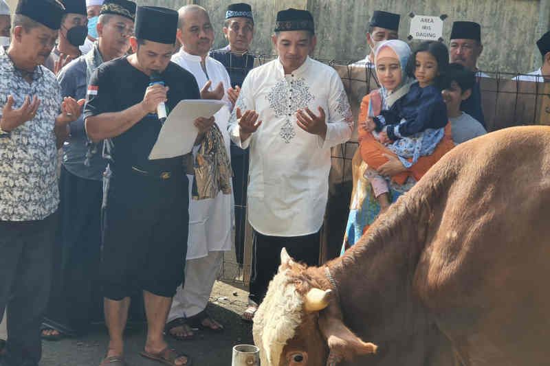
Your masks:
M201 67L201 57L190 55L183 49L172 56L172 61L183 67L195 76L199 89L208 80L212 80L212 87L217 87L219 82L223 83L223 89L227 91L231 87L228 72L220 62L214 58L206 58L206 73ZM208 75L207 75L208 74ZM230 139L228 134L228 119L230 107L227 95L223 101L227 107L214 115L225 141L225 148L230 156ZM233 227L233 194L222 194L219 192L216 198L201 201L191 199L191 188L194 176L189 178L189 236L187 242L187 260L203 258L209 251L230 251L232 247Z

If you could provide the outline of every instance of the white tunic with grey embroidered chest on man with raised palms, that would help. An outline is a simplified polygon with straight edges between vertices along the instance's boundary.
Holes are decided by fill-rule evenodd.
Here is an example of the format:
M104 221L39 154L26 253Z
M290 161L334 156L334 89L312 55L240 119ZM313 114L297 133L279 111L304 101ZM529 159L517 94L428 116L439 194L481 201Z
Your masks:
M319 231L329 191L331 147L348 141L353 116L338 73L307 58L285 75L276 59L252 69L236 106L255 110L263 123L241 142L235 110L230 135L237 146L250 146L248 220L269 236L304 236ZM302 130L296 111L309 107L327 115L327 137Z

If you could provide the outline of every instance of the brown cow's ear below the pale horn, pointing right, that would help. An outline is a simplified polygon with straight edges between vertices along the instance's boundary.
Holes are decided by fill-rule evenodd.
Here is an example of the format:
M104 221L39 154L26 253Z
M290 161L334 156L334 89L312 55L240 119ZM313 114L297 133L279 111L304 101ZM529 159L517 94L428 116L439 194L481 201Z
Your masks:
M327 339L329 358L333 360L352 361L356 355L376 353L376 345L362 341L344 325L342 319L330 312L320 312L319 328Z

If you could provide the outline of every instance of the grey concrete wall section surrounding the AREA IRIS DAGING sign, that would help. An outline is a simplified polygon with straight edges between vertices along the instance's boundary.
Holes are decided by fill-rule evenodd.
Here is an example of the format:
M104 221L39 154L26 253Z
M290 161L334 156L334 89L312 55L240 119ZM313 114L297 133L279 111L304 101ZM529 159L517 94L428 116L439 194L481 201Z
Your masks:
M406 39L410 25L408 14L447 14L443 38L448 42L452 22L476 21L482 27L484 52L479 60L483 70L530 71L540 1L529 0L310 0L308 9L320 25L318 52L340 59L360 58L368 52L364 33L373 10L401 14L399 36ZM336 32L335 32L336 31ZM538 60L537 60L538 61Z

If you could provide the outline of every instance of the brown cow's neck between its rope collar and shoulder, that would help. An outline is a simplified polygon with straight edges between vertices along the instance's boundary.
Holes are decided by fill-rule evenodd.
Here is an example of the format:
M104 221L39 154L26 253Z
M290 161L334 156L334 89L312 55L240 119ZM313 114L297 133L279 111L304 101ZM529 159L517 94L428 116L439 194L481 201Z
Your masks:
M346 255L329 263L344 322L364 341L395 351L377 356L376 365L428 365L430 343L441 341L413 289L430 209L420 201L403 201Z

